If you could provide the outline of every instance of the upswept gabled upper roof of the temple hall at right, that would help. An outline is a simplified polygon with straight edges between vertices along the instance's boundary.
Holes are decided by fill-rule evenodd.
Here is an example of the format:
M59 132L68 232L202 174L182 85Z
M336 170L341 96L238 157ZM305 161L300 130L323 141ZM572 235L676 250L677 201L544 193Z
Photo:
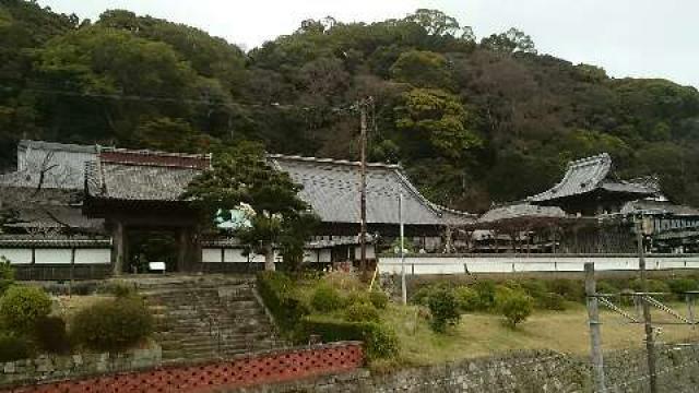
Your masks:
M528 201L558 206L568 214L595 216L617 213L630 201L660 195L655 179L618 180L612 169L612 157L606 153L571 162L556 186Z

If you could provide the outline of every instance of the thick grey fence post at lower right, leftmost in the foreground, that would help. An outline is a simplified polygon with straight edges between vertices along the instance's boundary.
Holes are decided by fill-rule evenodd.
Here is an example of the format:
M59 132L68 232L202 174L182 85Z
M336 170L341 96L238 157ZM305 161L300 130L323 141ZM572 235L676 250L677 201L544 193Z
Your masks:
M588 319L590 322L590 345L592 371L596 393L605 393L604 358L602 356L602 333L600 332L600 306L597 287L594 279L594 263L585 263L585 295L588 298Z

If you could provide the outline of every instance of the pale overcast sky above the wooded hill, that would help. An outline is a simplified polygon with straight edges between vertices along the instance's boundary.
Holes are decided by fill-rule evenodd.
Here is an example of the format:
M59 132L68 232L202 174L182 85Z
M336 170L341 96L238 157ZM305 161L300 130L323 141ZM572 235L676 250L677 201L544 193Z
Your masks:
M666 78L699 87L699 1L695 0L39 0L95 20L106 9L167 19L250 49L306 19L402 17L436 8L476 36L518 27L540 52L601 66L612 76Z

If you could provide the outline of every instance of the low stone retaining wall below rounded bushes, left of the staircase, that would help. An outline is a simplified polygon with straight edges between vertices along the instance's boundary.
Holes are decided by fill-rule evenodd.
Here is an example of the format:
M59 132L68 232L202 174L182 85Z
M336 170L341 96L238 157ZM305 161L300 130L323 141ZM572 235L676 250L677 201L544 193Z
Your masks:
M134 371L158 367L159 346L125 354L82 354L40 356L35 359L0 362L0 389L46 383L95 374Z

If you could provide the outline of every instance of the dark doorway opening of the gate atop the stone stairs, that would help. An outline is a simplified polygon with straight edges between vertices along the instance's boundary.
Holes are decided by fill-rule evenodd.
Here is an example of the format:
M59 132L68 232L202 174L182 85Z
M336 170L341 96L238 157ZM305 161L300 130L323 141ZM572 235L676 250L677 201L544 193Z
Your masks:
M149 273L150 262L165 262L166 272L177 271L179 245L176 231L129 229L127 237L127 273Z

